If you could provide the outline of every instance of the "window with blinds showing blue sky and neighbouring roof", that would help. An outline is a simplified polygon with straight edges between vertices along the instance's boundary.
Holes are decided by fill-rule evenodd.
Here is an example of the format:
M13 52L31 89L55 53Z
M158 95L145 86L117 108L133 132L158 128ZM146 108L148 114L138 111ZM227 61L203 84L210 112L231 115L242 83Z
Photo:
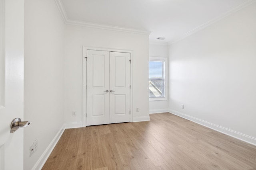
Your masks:
M150 57L149 59L149 98L166 100L166 58Z

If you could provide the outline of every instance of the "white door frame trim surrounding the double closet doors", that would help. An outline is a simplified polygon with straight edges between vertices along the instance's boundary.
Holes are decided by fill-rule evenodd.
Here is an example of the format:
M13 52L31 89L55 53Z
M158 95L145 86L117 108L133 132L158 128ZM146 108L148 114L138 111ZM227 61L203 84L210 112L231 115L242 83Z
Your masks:
M130 53L130 122L133 122L133 50L125 49L111 49L111 48L99 48L99 47L86 47L83 46L82 55L82 127L86 127L86 75L87 75L87 50L97 50L97 51L110 51L110 52L120 52L120 53Z

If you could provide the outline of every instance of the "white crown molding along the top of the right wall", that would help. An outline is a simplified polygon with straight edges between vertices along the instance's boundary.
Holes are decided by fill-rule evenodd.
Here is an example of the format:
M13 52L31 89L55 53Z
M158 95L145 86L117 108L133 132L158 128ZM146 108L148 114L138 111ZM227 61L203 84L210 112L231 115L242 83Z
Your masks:
M223 19L223 18L226 18L227 16L230 16L231 14L239 11L239 10L242 10L243 8L245 8L246 6L249 6L251 4L253 4L254 2L256 2L256 0L246 0L245 2L243 2L242 4L236 6L235 8L232 8L231 10L229 10L228 12L214 18L213 20L210 20L210 21L207 21L206 23L196 27L195 29L192 29L191 31L188 31L187 33L185 33L184 35L182 35L180 38L178 39L175 39L174 41L170 41L168 44L169 45L172 45L174 43L177 43L178 41L181 41L182 39L185 39L186 37L200 31L201 29L204 29L205 27L208 27L210 25L212 25L213 23Z

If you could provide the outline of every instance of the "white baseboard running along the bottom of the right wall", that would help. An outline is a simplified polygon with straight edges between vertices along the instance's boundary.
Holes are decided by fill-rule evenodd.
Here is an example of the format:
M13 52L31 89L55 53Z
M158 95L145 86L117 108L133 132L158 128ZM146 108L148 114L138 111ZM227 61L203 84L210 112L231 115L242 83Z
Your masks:
M236 139L239 139L241 141L244 141L246 143L250 143L252 145L255 145L256 146L256 138L254 137L251 137L251 136L248 136L248 135L245 135L245 134L242 134L242 133L239 133L239 132L236 132L236 131L233 131L231 129L227 129L225 127L221 127L219 125L215 125L213 123L210 123L210 122L207 122L207 121L204 121L202 119L198 119L196 117L192 117L190 115L186 115L184 113L180 113L178 111L175 111L175 110L172 110L172 109L169 109L169 112L174 114L174 115L177 115L177 116L180 116L180 117L183 117L185 119L188 119L190 121L193 121L195 123L198 123L200 125L203 125L205 127L208 127L210 129L213 129L215 131L218 131L220 133L224 133L228 136L231 136L231 137L234 137Z

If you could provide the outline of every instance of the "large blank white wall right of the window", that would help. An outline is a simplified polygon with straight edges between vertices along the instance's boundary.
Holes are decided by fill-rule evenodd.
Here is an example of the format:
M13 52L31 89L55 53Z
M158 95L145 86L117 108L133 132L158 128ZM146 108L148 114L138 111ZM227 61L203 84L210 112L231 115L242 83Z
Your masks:
M254 145L255 18L256 3L170 45L169 51L170 112Z

